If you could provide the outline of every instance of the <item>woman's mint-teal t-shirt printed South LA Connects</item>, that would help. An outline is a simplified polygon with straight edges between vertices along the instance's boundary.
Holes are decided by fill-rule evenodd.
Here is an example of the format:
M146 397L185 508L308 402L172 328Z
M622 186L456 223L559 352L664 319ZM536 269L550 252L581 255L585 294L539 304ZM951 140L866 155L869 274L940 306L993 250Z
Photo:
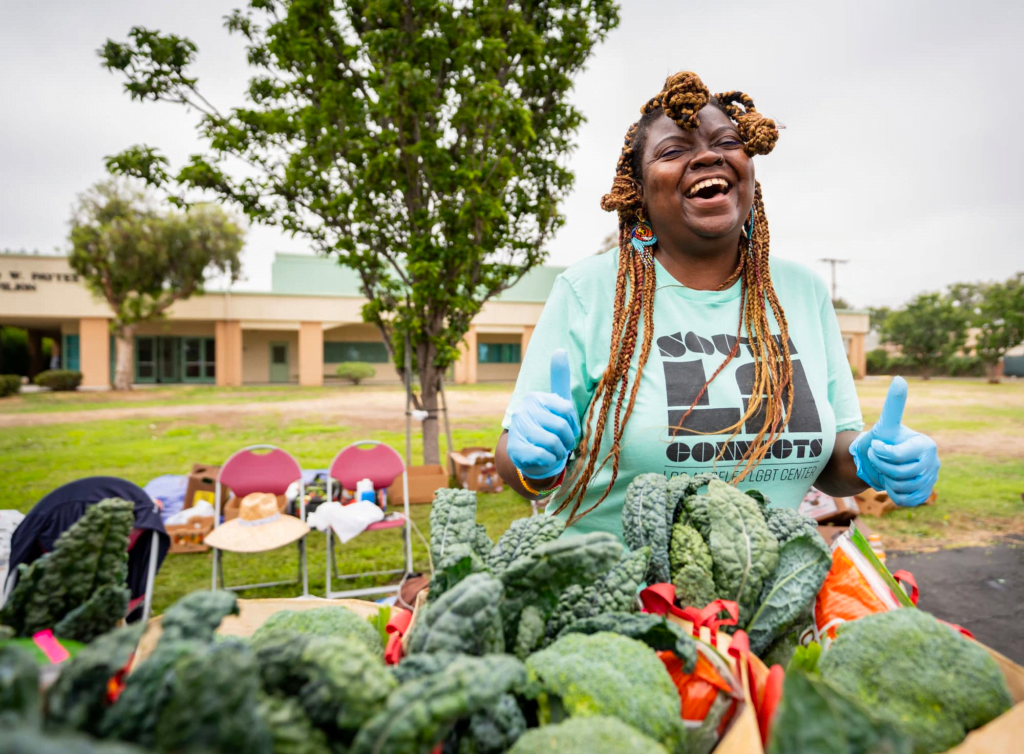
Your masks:
M572 399L581 421L608 364L611 313L618 255L600 254L566 269L556 280L530 338L515 392L505 413L509 427L519 400L531 391L550 391L551 354L565 348L571 368ZM602 531L622 537L622 504L637 474L714 471L723 479L738 474L737 461L756 436L763 419L755 416L731 439L720 430L743 413L754 379L754 358L739 352L697 402L682 430L678 427L705 380L732 348L739 318L741 285L724 291L698 291L676 281L657 261L654 295L654 342L644 368L636 406L622 441L615 487L572 533ZM796 508L833 452L836 433L860 430L863 422L839 322L824 283L801 264L773 259L771 277L790 326L794 402L790 423L768 456L739 484L757 489L777 507ZM769 311L773 333L778 325ZM745 332L745 326L744 326ZM640 344L633 354L636 376ZM596 417L595 417L596 419ZM710 432L698 434L694 432ZM601 458L611 446L610 421ZM722 460L716 458L729 442ZM611 464L595 474L580 510L597 501L611 478ZM557 495L549 505L553 510ZM563 513L564 515L564 513Z

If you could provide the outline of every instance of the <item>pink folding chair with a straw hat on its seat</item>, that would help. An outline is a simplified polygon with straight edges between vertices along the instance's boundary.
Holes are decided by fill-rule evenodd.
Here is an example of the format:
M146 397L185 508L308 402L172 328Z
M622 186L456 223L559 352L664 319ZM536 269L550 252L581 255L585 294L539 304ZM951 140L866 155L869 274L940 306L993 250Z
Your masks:
M269 451L257 453L256 451ZM306 519L305 486L302 484L302 467L292 454L275 448L272 445L251 445L224 461L217 472L214 485L214 529L220 523L224 488L228 488L236 497L244 498L254 492L284 495L293 481L299 483L299 518ZM309 594L309 577L306 568L306 538L298 541L299 547L299 578L297 581L270 581L261 584L244 584L227 586L224 580L223 553L213 548L213 588L217 589L217 577L220 577L220 588L230 591L242 589L260 589L268 586L287 584L302 584L302 596Z

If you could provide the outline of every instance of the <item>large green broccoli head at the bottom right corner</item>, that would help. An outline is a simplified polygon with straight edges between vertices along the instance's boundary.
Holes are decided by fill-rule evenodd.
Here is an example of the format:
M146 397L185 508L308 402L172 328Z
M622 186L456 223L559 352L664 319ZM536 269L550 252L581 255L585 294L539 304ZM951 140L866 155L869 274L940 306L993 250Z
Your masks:
M983 646L914 608L843 624L818 669L910 737L914 754L952 748L1012 704Z

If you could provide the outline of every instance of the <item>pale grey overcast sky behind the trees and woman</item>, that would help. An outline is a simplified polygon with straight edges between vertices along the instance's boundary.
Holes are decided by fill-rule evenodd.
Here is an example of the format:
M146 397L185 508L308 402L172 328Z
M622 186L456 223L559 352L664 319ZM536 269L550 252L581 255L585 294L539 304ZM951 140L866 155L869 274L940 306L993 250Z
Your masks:
M172 165L201 149L195 114L139 103L95 50L132 26L190 37L209 99L242 103L242 43L221 28L240 0L0 0L0 248L66 246L75 196L133 143ZM622 25L579 78L587 117L577 188L550 262L598 250L614 228L598 206L626 128L675 71L740 89L786 128L757 159L772 254L849 259L839 295L905 301L956 281L1024 270L1024 3L624 0ZM300 241L252 228L246 282L265 290L274 251Z

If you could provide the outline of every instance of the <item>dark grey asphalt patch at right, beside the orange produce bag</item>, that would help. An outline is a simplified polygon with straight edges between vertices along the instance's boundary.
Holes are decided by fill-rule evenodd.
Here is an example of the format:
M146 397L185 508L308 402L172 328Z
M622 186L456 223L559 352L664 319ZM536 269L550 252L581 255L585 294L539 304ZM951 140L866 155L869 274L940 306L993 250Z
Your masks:
M913 574L918 606L957 623L1024 665L1024 540L928 553L890 552L890 571Z

